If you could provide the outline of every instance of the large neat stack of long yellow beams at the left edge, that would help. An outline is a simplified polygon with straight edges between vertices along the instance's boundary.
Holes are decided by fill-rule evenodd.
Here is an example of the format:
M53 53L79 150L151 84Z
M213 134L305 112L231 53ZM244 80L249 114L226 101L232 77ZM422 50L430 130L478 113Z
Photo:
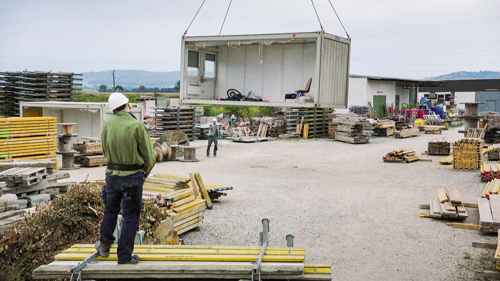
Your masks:
M56 117L0 118L0 161L43 159L57 162Z

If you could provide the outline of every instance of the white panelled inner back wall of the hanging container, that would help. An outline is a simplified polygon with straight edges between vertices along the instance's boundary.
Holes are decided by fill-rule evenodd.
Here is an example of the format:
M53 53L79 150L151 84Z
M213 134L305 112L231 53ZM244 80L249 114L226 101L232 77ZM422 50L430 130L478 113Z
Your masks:
M225 98L227 90L235 88L283 102L284 94L304 88L309 78L314 81L315 65L316 43L264 45L262 57L258 45L219 46L215 95ZM311 84L312 98L316 88Z

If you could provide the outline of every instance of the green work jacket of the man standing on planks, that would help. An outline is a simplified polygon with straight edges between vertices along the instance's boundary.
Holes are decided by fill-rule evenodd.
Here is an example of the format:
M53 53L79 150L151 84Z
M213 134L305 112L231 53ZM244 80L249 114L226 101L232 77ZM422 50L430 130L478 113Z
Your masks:
M102 125L102 154L106 161L113 164L144 165L148 174L154 166L153 145L146 126L130 113L118 111L104 121ZM120 171L106 169L111 175L126 176L141 169Z

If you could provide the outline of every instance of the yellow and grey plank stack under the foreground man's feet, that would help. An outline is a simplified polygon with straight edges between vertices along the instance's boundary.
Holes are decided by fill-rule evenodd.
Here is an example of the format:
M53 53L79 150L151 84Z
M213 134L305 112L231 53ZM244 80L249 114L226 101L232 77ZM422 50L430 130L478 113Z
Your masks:
M116 245L109 257L88 263L82 279L250 279L260 246L135 245L138 265L116 264ZM74 244L55 255L55 260L33 271L34 279L69 278L69 268L93 253L93 244ZM305 249L268 246L260 264L261 279L331 280L326 264L305 264Z

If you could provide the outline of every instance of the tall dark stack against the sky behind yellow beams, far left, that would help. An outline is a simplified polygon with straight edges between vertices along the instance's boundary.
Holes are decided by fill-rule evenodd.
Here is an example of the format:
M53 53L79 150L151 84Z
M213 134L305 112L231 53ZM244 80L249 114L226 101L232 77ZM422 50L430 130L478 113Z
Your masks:
M0 72L0 116L19 116L19 101L77 101L81 80L76 73Z

